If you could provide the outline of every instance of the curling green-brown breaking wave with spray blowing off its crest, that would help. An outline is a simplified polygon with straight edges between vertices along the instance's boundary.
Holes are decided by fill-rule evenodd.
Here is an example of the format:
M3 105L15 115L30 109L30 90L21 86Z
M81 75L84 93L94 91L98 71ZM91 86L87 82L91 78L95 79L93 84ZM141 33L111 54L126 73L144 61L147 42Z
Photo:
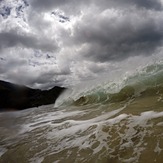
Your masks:
M68 90L57 105L116 103L163 93L163 63L148 65L118 82L102 83L94 88Z

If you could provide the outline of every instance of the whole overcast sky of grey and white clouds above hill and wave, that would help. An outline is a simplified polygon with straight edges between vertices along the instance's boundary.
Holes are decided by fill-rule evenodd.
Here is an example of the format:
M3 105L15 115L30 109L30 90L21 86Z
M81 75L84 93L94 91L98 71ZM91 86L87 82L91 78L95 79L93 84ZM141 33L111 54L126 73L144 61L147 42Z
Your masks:
M0 0L0 80L74 85L162 45L163 0Z

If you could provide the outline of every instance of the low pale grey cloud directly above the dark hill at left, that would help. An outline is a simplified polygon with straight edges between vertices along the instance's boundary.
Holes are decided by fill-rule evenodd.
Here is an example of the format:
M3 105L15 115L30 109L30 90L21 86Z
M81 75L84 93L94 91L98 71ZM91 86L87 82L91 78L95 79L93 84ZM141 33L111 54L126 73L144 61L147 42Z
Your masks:
M14 65L16 63L17 65ZM62 72L56 73L55 69L46 70L42 68L42 71L39 69L28 69L27 71L27 64L25 66L21 61L15 61L14 64L11 62L6 63L6 65L3 64L2 69L0 69L0 78L33 88L48 89L54 85L62 86L67 79L67 75L69 75L64 75Z

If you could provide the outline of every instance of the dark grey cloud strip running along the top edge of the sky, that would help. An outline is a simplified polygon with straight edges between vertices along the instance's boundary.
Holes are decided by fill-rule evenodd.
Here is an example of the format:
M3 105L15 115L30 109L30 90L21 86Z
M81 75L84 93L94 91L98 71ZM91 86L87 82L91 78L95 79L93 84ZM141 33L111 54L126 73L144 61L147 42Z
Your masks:
M95 5L101 9L106 8L126 8L129 6L152 9L152 10L162 10L161 0L30 0L31 6L36 10L47 11L54 8L65 9L66 11L82 10L82 6ZM73 12L72 12L73 14Z

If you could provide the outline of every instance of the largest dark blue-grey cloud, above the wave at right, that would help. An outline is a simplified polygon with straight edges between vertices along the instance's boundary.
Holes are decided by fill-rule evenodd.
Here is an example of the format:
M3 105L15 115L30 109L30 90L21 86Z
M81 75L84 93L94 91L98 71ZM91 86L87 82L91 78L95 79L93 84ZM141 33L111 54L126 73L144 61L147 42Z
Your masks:
M151 55L163 43L160 22L144 12L125 13L114 19L86 17L76 26L74 42L83 45L81 55L96 62Z

